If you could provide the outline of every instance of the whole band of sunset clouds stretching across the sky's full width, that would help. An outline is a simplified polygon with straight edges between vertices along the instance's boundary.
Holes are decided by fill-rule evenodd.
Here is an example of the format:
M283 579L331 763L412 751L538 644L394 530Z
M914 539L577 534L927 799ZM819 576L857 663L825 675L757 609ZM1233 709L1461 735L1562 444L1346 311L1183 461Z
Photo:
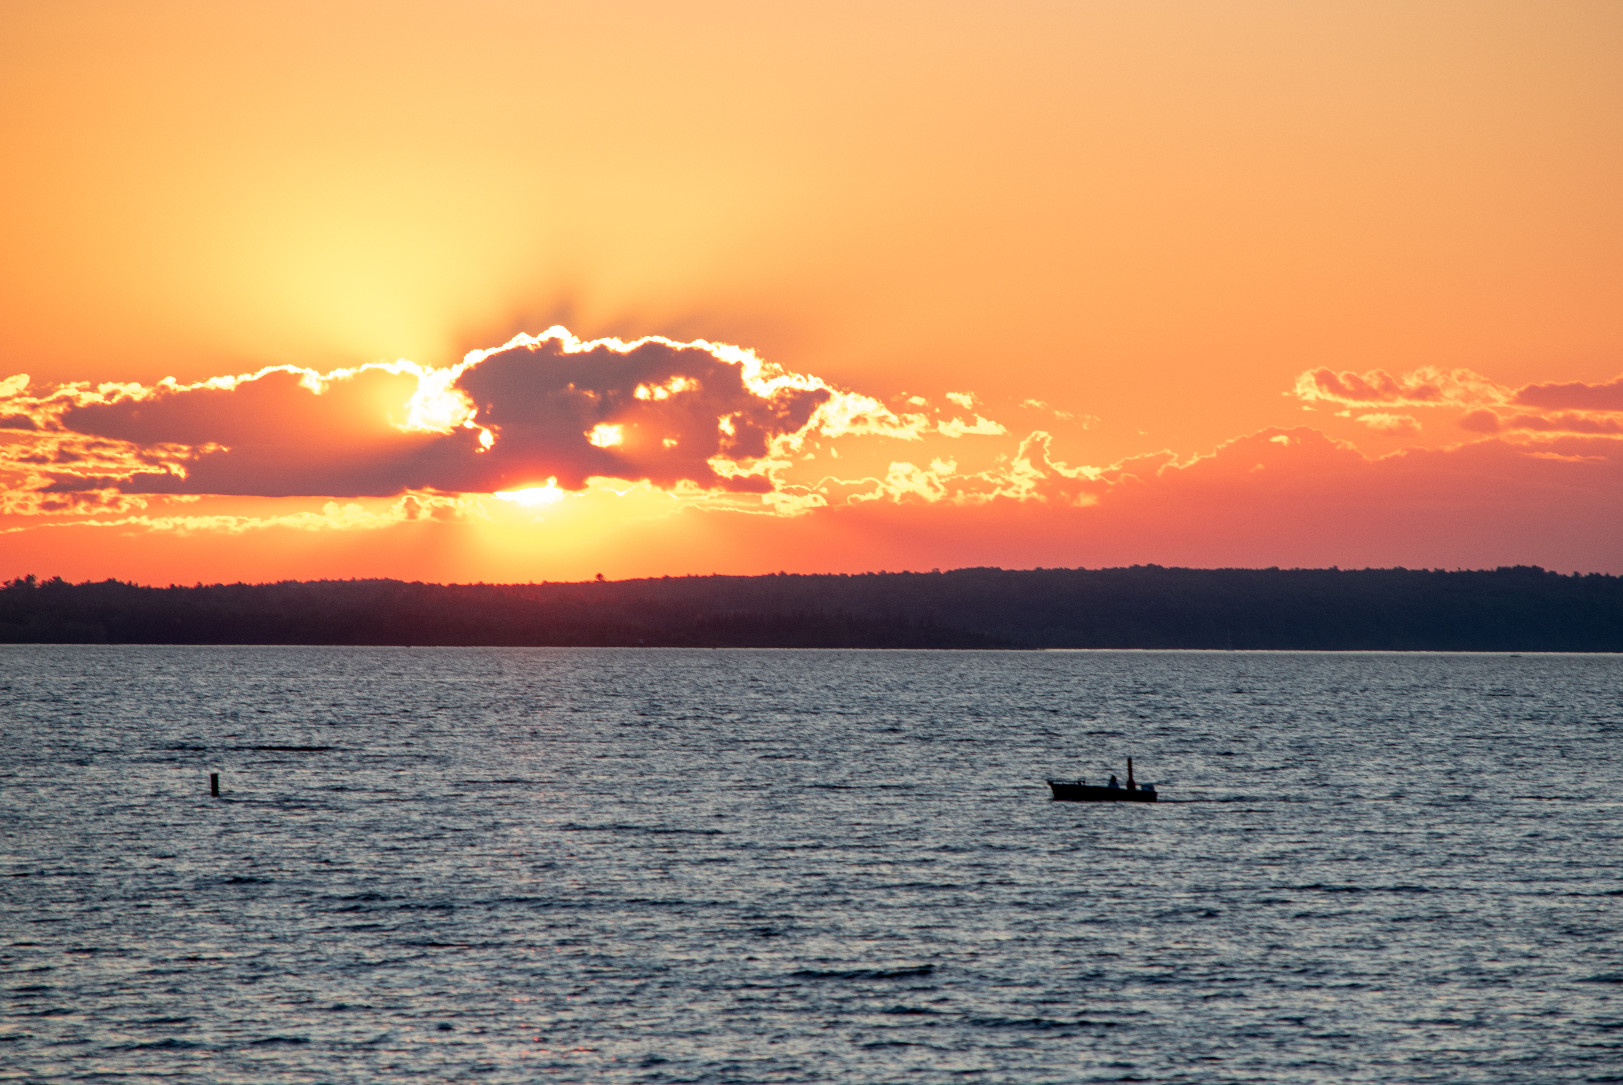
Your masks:
M1417 416L1436 432L1441 411L1457 442L1368 456L1313 427L1269 427L1203 455L1159 450L1096 466L1063 456L1047 430L1011 432L969 391L943 393L940 409L923 396L893 409L737 346L581 341L550 328L448 369L284 365L190 385L47 390L11 377L0 382L0 512L240 539L534 523L573 495L589 499L583 510L631 515L635 505L641 518L696 507L876 523L891 510L915 517L923 536L951 531L982 551L1018 549L1010 515L1035 517L1024 530L1053 546L1086 551L1112 536L1147 547L1147 559L1157 539L1196 549L1230 539L1224 560L1240 564L1313 531L1371 547L1423 536L1428 552L1466 525L1474 539L1545 525L1623 538L1623 378L1513 388L1457 369L1319 369L1294 393L1381 437L1420 432ZM1071 417L1039 400L1019 409ZM622 512L591 504L631 491L641 497L613 507ZM169 507L201 499L214 505ZM253 512L227 499L315 504ZM28 530L11 523L13 538ZM1516 559L1529 549L1534 541ZM1294 552L1318 551L1302 542Z

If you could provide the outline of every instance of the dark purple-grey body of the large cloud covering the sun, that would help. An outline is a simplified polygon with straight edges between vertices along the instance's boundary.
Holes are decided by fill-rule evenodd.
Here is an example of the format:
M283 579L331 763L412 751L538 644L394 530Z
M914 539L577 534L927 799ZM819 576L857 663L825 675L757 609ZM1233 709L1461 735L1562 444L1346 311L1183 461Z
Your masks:
M128 442L127 463L97 476L58 473L45 489L377 497L492 492L549 478L579 489L607 476L760 492L769 479L729 468L764 456L831 396L821 382L750 372L704 346L571 346L544 338L471 357L443 393L428 390L438 396L430 408L456 416L445 421L440 411L437 429L409 427L419 374L390 367L325 382L268 370L216 387L88 398L49 414L62 435L58 463L73 455L75 437ZM151 455L159 447L167 455Z

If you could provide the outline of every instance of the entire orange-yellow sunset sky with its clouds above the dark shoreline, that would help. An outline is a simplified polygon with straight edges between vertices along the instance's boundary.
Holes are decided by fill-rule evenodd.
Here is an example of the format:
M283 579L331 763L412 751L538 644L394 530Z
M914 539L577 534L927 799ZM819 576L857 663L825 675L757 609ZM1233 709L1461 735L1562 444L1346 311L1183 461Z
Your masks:
M1623 5L0 5L0 577L1623 573Z

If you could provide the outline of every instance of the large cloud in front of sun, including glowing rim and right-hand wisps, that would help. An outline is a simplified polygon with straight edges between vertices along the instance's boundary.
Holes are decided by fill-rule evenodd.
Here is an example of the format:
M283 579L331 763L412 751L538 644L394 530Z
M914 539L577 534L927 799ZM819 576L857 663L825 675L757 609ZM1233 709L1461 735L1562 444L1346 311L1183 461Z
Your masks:
M995 422L936 422L948 435ZM0 383L0 469L39 494L383 497L497 492L613 478L766 494L812 437L917 440L925 414L708 341L583 343L563 328L412 362L316 374L269 367L180 385Z

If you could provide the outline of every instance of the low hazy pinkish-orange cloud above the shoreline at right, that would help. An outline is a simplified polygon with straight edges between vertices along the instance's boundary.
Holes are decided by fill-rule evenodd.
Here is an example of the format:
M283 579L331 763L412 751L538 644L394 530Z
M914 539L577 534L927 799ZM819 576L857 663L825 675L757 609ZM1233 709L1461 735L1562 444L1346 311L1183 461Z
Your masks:
M1540 564L1623 572L1617 437L1488 439L1365 456L1315 429L1266 429L1190 460L1121 461L1092 479L1055 476L1044 452L1022 456L1032 468L1027 499L998 502L997 515L954 500L868 502L826 523L847 518L842 531L886 547L868 559L875 567ZM1060 499L1078 492L1094 500Z

